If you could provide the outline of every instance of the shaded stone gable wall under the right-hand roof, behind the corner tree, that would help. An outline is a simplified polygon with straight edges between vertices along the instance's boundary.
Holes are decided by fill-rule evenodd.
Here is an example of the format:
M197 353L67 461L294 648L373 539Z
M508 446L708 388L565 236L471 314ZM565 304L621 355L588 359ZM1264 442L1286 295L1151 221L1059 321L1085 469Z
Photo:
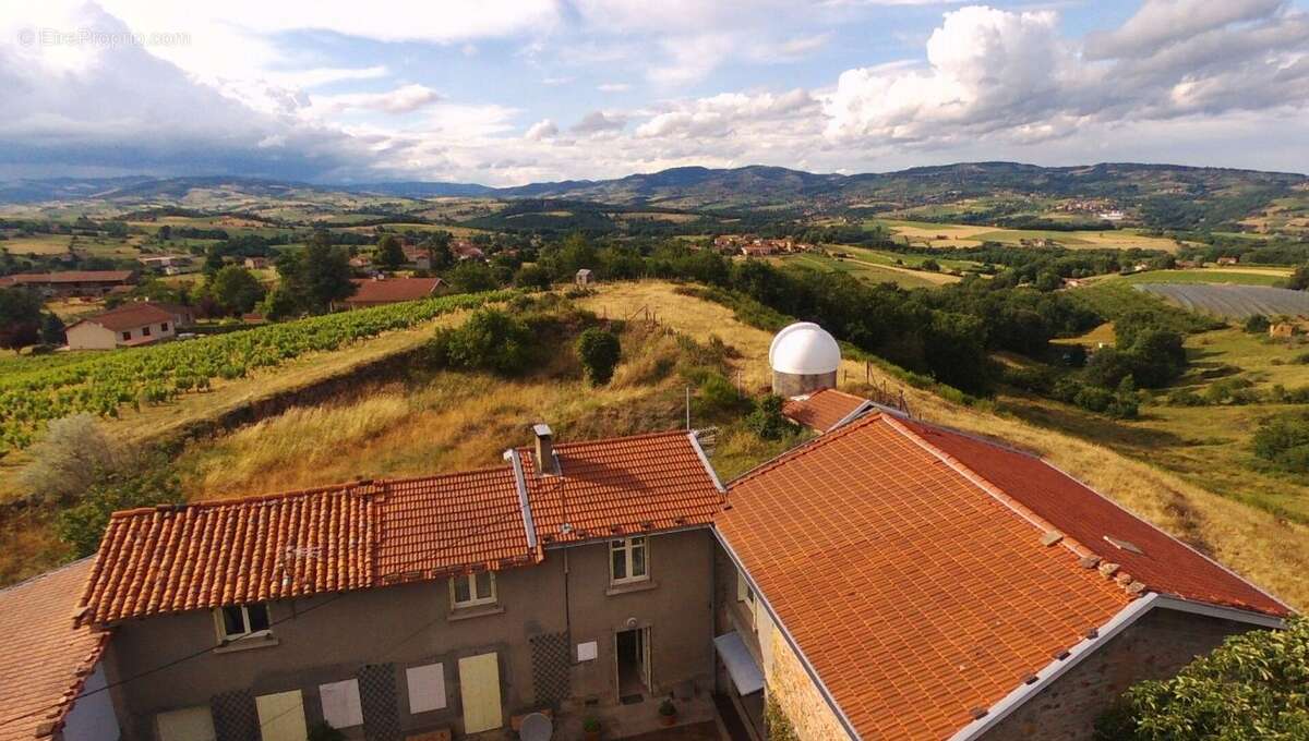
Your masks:
M1093 737L1096 717L1123 690L1143 680L1175 674L1228 635L1253 626L1168 609L1153 609L1086 656L988 731L986 741Z

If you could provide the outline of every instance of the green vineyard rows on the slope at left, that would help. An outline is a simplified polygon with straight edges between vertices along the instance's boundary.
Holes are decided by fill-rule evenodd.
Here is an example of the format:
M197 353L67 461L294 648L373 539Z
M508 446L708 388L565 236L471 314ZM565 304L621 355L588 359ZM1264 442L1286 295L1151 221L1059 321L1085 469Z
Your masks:
M22 450L50 420L88 412L117 417L127 405L157 405L238 379L301 354L403 329L441 314L500 301L508 291L452 295L329 314L228 335L149 348L110 350L80 362L31 358L0 376L0 452Z

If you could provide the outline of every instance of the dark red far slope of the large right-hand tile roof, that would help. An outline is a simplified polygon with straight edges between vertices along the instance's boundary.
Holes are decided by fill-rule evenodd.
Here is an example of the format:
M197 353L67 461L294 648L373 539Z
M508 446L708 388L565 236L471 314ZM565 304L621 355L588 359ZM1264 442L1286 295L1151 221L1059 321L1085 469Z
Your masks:
M1152 592L1289 614L1267 593L1037 456L954 430L912 421L901 423L1073 538L1088 554L1117 563L1119 574L1143 582ZM1106 538L1130 544L1140 553Z

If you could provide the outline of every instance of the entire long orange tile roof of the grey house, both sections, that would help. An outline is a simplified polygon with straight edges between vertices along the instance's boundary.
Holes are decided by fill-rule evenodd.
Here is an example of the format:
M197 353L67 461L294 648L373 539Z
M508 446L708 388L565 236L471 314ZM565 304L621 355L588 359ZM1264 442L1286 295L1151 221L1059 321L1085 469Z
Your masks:
M721 506L686 433L556 446L537 532L590 537L707 524ZM541 514L535 514L537 507ZM581 540L552 535L552 542ZM509 465L115 512L81 604L88 622L361 589L539 562Z

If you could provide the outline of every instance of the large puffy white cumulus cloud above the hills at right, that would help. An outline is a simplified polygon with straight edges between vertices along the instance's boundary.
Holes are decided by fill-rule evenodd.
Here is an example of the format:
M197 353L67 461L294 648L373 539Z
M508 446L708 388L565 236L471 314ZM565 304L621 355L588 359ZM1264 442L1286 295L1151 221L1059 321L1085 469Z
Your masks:
M1195 12L1185 22L1183 4ZM1122 29L1092 37L1098 55L1118 47L1131 55L1096 60L1059 34L1052 12L961 8L932 33L925 65L842 73L825 97L827 135L846 145L945 148L982 136L1030 144L1090 122L1304 107L1304 14L1241 4L1215 13L1202 0L1156 0ZM1138 44L1145 41L1148 51Z

